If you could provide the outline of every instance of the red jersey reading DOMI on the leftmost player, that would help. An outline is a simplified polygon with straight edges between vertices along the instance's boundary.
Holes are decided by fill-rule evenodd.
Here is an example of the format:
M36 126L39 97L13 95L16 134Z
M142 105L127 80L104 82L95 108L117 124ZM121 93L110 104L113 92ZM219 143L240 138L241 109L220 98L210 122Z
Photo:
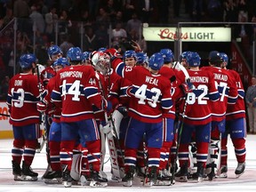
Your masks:
M40 113L36 109L39 100L37 76L25 73L13 76L9 83L6 101L11 111L10 124L15 126L39 124Z

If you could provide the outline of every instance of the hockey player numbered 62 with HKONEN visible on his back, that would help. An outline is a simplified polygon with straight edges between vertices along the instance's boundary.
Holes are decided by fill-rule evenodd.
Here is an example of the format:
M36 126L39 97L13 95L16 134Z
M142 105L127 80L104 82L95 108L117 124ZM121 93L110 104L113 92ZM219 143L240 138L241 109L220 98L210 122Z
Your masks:
M195 86L188 92L187 98L180 104L180 171L175 174L175 180L188 181L188 145L192 133L196 134L197 146L197 180L202 181L206 165L208 144L211 136L211 108L209 100L218 100L220 94L215 87L213 74L199 69L201 58L197 52L188 53L188 74L190 82Z

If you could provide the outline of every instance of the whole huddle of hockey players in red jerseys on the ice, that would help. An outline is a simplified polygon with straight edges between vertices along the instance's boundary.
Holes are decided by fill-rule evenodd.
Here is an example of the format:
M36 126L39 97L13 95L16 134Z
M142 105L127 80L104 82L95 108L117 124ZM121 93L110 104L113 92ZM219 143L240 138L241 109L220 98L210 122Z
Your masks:
M30 165L44 124L48 167L45 183L106 187L106 141L111 180L132 186L228 177L228 134L240 176L245 169L244 88L227 69L226 53L209 53L200 68L197 52L147 53L100 48L48 49L50 65L34 54L20 57L7 104L14 135L14 180L37 180ZM42 121L43 120L43 121ZM43 123L42 123L43 122ZM22 166L20 167L22 161ZM179 167L178 167L179 166Z

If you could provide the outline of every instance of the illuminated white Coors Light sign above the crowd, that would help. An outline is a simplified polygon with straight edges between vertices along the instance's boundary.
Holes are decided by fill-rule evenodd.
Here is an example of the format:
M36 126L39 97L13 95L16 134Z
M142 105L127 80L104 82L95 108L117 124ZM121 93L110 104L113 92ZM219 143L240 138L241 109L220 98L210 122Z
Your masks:
M177 28L143 28L146 41L174 41ZM231 28L181 28L182 42L231 42Z

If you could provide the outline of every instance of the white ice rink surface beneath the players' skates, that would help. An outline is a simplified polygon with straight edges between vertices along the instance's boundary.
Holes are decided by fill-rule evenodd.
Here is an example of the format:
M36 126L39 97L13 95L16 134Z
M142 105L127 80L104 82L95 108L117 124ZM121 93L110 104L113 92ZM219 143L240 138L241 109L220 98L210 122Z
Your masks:
M111 192L126 192L126 191L140 191L140 192L164 192L164 191L255 191L256 190L256 135L248 135L246 138L246 169L240 178L236 179L236 156L231 140L228 140L228 178L227 179L213 179L212 181L204 180L201 183L188 181L188 183L176 182L173 186L154 186L143 187L142 184L136 183L132 188L123 187L122 183L111 180L110 164L108 161L108 154L106 155L104 171L108 175L107 188L90 188L82 186L72 186L71 188L64 188L63 185L47 185L41 180L41 176L47 167L45 149L41 153L36 153L32 168L39 173L39 180L37 181L14 181L12 176L12 140L0 140L0 191L11 192L59 192L59 191L111 191Z

